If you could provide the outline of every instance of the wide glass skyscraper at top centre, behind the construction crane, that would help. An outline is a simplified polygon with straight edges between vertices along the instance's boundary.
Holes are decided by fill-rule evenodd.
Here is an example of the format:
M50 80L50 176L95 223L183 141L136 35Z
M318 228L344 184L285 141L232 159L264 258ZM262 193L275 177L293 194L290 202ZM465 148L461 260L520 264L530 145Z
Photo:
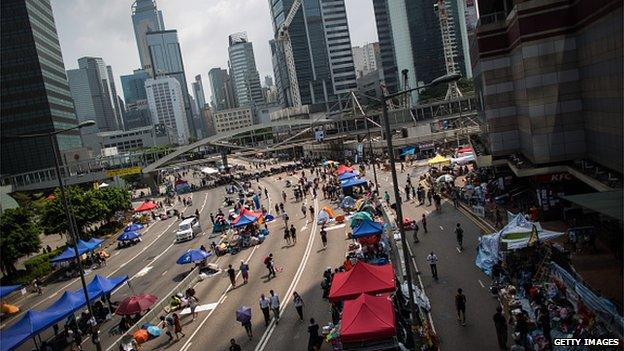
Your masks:
M277 36L293 1L271 1L273 31ZM355 89L355 68L344 0L304 1L289 28L297 83L304 105L337 101L336 94ZM283 48L270 42L273 74L280 102L292 106Z

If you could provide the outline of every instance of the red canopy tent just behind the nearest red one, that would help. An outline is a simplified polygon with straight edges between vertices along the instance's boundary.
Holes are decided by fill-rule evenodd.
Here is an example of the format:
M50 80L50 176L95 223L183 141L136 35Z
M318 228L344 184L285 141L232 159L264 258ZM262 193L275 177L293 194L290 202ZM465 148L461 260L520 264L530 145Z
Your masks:
M375 266L360 261L351 270L334 274L329 301L349 300L360 294L389 293L395 288L391 264Z

